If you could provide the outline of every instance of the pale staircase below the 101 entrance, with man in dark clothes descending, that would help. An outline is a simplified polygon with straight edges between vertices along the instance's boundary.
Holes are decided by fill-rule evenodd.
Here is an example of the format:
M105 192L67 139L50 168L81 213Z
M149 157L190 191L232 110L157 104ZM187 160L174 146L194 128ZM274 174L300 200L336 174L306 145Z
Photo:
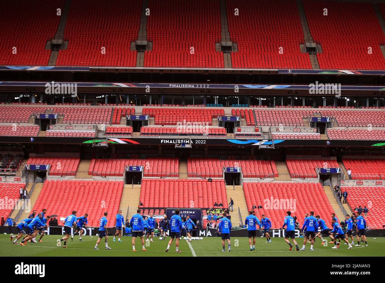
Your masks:
M246 198L244 197L242 186L226 186L226 195L227 195L227 203L230 203L230 198L234 201L233 212L230 211L231 215L231 225L239 226L238 207L241 211L241 216L243 218L242 223L244 223L244 219L249 215L246 205Z

